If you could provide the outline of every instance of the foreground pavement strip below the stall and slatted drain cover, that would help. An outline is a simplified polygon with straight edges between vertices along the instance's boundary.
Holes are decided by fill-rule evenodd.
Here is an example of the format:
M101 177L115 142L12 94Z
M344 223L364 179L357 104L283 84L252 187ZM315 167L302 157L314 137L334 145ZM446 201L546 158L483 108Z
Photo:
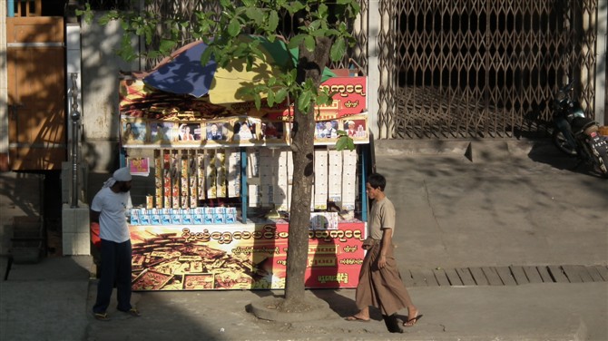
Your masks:
M3 264L5 264L3 262ZM2 282L2 340L605 340L608 284L505 287L411 287L424 315L405 334L389 334L377 310L370 322L344 320L355 290L308 290L326 307L293 323L258 319L251 302L281 291L134 293L142 317L109 310L91 315L96 282L88 257L45 258L14 265ZM4 268L3 268L4 270ZM401 312L405 313L405 312ZM401 317L405 318L405 317Z

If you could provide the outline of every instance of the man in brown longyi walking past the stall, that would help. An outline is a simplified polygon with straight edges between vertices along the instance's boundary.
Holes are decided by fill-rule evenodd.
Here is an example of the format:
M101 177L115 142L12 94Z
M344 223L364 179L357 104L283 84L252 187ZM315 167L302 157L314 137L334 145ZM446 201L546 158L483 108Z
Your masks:
M418 315L418 309L407 293L393 254L396 213L384 193L386 185L387 180L378 173L369 175L366 183L368 197L374 200L369 213L369 237L363 243L368 253L361 265L355 294L359 311L346 319L369 321L369 306L374 306L382 312L389 332L403 333L397 322L398 310L407 307L407 321L403 326L414 326L422 315Z

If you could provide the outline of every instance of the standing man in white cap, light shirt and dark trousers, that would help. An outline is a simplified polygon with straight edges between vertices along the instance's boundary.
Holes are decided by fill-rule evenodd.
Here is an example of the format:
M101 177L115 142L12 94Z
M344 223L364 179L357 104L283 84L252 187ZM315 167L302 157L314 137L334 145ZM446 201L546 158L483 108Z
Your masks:
M110 319L106 310L110 306L114 283L117 309L134 317L140 316L139 310L131 306L132 248L125 214L132 207L131 180L129 167L114 171L91 203L91 221L99 223L99 237L102 239L102 269L93 316L102 321Z

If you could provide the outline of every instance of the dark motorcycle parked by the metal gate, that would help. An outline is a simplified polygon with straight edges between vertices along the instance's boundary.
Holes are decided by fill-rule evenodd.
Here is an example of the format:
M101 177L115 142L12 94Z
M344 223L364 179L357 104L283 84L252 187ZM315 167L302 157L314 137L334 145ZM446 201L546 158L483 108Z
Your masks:
M586 163L608 178L608 137L600 134L598 122L585 117L581 103L570 95L573 88L574 81L564 85L551 101L554 145L564 154L576 156L576 167Z

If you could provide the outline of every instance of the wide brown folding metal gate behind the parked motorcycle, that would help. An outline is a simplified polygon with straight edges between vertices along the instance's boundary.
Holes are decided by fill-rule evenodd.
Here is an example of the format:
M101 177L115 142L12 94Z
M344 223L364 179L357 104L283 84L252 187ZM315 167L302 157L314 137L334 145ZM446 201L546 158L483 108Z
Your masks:
M380 138L539 136L569 77L593 116L597 1L380 0ZM387 23L383 23L387 24Z

